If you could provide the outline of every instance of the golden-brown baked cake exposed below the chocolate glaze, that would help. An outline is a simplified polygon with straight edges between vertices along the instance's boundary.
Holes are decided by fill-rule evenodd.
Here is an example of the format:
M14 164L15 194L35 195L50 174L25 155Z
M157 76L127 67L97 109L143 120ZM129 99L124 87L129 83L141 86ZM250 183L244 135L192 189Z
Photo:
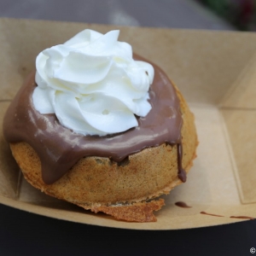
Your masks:
M177 96L183 113L183 168L189 172L198 143L194 115L178 90ZM45 194L127 221L154 221L152 212L163 203L146 201L182 183L177 177L177 146L145 148L131 154L123 165L108 158L86 157L53 184L43 182L38 154L30 145L11 143L10 147L26 180Z

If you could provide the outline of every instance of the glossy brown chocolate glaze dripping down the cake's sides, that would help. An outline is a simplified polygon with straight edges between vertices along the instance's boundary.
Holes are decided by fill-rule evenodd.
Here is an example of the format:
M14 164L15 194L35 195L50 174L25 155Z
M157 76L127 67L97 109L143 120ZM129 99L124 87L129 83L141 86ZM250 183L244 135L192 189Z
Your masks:
M143 58L136 56L136 59ZM149 61L148 61L149 62ZM185 182L182 168L181 116L176 90L166 74L153 63L154 82L150 86L152 109L139 125L129 131L105 137L83 136L63 127L55 114L40 114L32 103L35 73L32 73L10 104L3 120L3 135L9 143L26 142L38 153L44 183L54 183L86 156L125 160L143 148L162 143L177 145L178 177Z

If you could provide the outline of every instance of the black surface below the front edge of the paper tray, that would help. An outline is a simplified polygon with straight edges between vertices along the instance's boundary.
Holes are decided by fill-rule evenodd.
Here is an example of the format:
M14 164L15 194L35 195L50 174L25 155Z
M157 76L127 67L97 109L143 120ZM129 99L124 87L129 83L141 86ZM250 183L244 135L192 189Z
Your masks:
M0 205L0 255L252 255L256 221L191 230L121 230Z

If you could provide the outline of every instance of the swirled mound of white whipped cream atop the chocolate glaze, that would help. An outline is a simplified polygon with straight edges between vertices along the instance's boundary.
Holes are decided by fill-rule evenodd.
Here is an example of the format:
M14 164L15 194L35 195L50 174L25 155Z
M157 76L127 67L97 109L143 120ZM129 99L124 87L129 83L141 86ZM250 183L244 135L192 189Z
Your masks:
M61 125L104 136L137 126L151 109L154 68L132 59L119 31L86 29L65 44L44 49L36 60L32 101L39 113L55 113Z

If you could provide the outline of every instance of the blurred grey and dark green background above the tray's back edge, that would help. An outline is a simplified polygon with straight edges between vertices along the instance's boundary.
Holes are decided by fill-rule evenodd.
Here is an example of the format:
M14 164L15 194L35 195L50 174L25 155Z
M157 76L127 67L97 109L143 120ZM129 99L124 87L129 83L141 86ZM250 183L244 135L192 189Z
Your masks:
M255 31L255 0L0 0L0 17Z

